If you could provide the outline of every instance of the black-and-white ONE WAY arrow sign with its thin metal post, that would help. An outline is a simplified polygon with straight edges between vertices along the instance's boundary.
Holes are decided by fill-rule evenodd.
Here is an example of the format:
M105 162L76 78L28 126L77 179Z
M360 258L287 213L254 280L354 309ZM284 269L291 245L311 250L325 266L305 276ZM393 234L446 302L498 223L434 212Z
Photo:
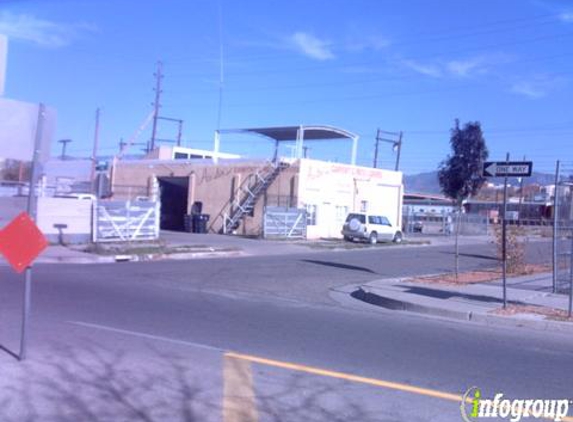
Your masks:
M486 161L483 164L483 177L503 177L503 215L501 220L501 261L503 277L503 308L507 308L507 178L529 177L533 169L531 161Z

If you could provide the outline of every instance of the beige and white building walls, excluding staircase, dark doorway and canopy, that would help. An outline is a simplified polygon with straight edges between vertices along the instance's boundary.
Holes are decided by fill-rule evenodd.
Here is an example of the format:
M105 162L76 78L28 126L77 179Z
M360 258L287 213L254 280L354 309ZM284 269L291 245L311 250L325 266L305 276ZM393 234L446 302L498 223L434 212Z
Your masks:
M189 191L187 213L194 202L203 203L210 215L209 227L218 232L223 213L243 183L254 184L264 161L228 160L219 164L177 162L176 160L140 160L119 162L112 177L114 198L150 195L153 177L187 177ZM250 182L249 182L250 181ZM129 188L127 188L129 187ZM246 217L237 233L262 235L263 210L269 206L294 206L310 212L308 238L341 237L346 215L367 208L385 215L397 226L402 221L402 173L356 167L317 160L297 160L283 170L266 194L257 202L253 216ZM162 204L165 206L165 204Z

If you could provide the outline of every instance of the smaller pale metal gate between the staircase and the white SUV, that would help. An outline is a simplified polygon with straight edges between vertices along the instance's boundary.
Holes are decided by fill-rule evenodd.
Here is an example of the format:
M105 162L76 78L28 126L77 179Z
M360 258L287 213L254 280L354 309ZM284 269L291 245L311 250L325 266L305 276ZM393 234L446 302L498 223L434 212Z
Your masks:
M306 239L306 210L265 207L263 237Z

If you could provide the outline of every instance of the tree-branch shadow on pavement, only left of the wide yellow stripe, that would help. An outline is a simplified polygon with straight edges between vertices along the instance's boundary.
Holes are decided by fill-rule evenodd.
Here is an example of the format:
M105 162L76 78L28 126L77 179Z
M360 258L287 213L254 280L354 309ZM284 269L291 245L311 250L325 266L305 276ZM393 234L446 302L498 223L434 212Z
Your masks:
M165 354L153 360L147 366L92 344L81 352L52 348L49 359L16 364L9 377L3 368L2 422L205 420L213 403L202 397L189 362Z

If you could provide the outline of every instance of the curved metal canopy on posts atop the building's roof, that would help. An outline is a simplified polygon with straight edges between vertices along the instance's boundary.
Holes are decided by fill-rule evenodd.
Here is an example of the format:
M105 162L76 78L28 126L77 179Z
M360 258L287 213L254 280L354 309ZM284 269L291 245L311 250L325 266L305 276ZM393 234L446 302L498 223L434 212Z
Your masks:
M323 125L300 125L300 126L279 126L250 129L225 129L215 132L214 151L219 151L222 133L253 133L264 136L275 141L274 160L277 159L279 142L296 141L296 157L303 157L304 141L320 141L332 139L352 140L351 163L356 165L356 152L358 146L358 135L339 129L333 126Z

